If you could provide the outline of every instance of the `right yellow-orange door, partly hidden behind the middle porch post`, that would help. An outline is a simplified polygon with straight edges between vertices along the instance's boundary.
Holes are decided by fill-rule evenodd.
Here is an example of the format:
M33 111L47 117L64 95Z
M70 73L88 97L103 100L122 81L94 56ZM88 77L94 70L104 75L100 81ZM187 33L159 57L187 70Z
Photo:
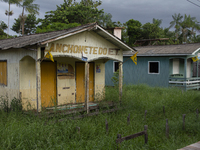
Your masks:
M89 101L94 101L94 63L89 64ZM76 63L76 102L85 102L85 63Z

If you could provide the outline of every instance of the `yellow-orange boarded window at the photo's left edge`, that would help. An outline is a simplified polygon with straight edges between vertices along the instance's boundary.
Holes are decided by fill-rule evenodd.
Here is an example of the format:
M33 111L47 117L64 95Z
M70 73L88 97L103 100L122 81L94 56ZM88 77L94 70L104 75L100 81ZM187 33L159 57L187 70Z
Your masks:
M0 85L7 85L7 61L0 61Z

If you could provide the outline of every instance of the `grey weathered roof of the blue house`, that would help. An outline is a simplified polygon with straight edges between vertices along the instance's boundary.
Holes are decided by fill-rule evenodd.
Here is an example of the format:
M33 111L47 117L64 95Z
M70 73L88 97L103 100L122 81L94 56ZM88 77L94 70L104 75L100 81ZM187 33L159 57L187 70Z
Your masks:
M180 45L155 45L134 47L138 56L176 56L195 55L200 50L200 43ZM132 56L132 52L123 52L124 56Z

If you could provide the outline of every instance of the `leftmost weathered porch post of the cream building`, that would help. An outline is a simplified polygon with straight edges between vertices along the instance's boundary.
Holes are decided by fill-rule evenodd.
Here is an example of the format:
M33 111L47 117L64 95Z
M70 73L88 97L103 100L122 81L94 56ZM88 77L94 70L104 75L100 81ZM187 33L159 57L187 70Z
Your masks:
M37 49L36 57L36 99L37 99L37 112L41 111L41 67L40 59L41 58L41 48Z

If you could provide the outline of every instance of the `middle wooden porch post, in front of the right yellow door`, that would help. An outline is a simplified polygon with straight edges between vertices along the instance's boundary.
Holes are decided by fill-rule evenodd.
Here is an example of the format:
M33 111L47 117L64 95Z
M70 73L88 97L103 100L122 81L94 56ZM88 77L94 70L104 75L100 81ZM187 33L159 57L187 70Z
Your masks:
M85 108L87 110L87 114L89 113L89 68L90 64L88 62L85 63Z

